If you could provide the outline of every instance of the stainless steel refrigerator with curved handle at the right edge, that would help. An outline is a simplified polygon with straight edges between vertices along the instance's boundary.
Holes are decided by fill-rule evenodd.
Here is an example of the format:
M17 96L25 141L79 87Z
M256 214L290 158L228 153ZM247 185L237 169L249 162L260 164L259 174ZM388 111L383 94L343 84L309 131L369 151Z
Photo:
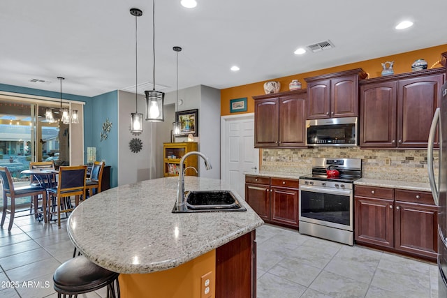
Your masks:
M438 125L439 124L439 125ZM439 177L434 177L433 144L438 131ZM439 298L447 297L447 83L441 87L441 105L437 108L430 129L427 152L428 176L438 212L438 290Z

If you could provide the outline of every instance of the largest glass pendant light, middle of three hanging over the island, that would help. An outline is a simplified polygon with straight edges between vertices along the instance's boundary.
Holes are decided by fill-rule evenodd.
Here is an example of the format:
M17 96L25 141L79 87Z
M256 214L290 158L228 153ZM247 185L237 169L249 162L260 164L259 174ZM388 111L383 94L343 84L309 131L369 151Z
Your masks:
M163 101L165 94L155 90L155 0L152 1L152 50L154 52L154 89L145 91L146 95L146 121L165 121L163 115Z

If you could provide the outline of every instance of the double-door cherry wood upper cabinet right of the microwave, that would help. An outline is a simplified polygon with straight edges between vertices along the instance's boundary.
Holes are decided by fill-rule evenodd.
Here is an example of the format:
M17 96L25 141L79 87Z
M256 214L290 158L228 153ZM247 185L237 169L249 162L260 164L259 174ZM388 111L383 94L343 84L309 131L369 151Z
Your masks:
M444 68L360 81L360 147L426 148Z

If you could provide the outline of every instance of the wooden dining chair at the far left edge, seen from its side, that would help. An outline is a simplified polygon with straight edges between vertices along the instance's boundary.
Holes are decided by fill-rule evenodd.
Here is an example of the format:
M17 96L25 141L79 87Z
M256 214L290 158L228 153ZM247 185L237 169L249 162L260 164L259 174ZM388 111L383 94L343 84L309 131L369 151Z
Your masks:
M5 222L6 214L10 214L9 216L9 225L8 231L13 228L13 222L15 217L15 199L23 198L31 196L41 195L42 196L42 213L45 223L47 222L47 209L45 208L47 204L47 190L41 186L22 186L22 187L14 187L13 178L8 170L8 167L0 167L0 179L1 184L3 186L3 211L1 215L1 223L0 227L3 227L3 223ZM8 209L8 198L10 198L10 209ZM34 212L38 213L38 206L34 204ZM29 214L26 214L29 215ZM25 215L24 215L25 216ZM21 216L17 216L21 217Z

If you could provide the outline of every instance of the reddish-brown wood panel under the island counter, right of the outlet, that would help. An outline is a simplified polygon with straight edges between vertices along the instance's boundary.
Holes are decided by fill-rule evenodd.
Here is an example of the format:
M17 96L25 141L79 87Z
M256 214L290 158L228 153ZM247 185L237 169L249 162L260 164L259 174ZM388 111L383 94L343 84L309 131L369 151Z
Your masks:
M216 249L216 298L256 298L256 231Z

